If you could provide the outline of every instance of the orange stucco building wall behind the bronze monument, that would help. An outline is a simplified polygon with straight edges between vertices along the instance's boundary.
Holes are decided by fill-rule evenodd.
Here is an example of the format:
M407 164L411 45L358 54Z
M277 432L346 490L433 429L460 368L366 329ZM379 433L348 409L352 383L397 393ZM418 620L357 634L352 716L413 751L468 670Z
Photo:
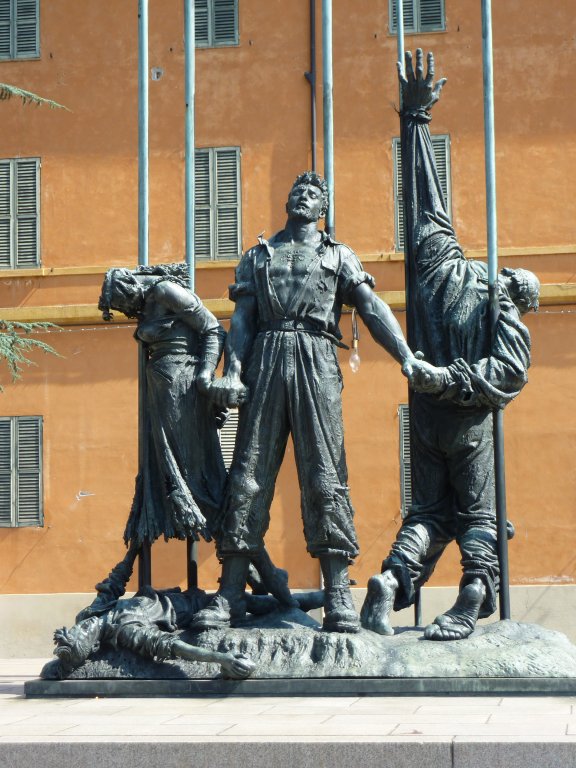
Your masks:
M318 2L318 11L320 3ZM574 282L576 157L574 100L558 72L568 67L571 0L495 4L494 63L499 242L507 260L544 283ZM41 3L38 61L0 63L0 80L66 104L71 112L1 105L0 157L42 158L42 264L133 265L137 253L136 0ZM465 249L485 246L484 147L479 3L446 0L447 31L407 38L433 48L449 82L432 130L449 133L454 223ZM183 255L182 3L150 3L150 253ZM537 26L534 19L538 19ZM566 61L564 61L564 57ZM336 225L362 256L393 250L392 138L395 39L387 3L334 4ZM283 224L289 184L310 165L308 3L241 0L240 45L197 54L197 145L242 150L243 245ZM319 71L320 50L318 67ZM321 117L322 93L318 92ZM321 140L321 136L319 136ZM319 144L319 157L322 146ZM558 247L569 252L562 254ZM536 253L536 249L542 253ZM546 251L549 251L547 253ZM523 255L523 251L526 254ZM367 263L380 290L400 290L400 262ZM226 296L230 267L199 269L203 298ZM95 303L101 275L0 274L0 307ZM576 581L576 307L531 316L530 384L506 413L514 583ZM0 310L1 315L1 310ZM402 314L399 313L402 319ZM349 338L349 317L343 320ZM136 344L130 327L67 326L50 334L62 358L40 356L0 415L44 416L45 526L0 529L0 592L90 590L123 554L136 472ZM361 555L359 584L379 569L400 522L397 406L401 374L367 336L353 375L342 353L352 499ZM86 495L83 495L84 494ZM268 545L294 586L316 586L305 553L290 450L278 481ZM184 547L154 547L158 586L183 583ZM200 548L200 579L218 573L212 545ZM441 561L435 584L458 580L458 554Z

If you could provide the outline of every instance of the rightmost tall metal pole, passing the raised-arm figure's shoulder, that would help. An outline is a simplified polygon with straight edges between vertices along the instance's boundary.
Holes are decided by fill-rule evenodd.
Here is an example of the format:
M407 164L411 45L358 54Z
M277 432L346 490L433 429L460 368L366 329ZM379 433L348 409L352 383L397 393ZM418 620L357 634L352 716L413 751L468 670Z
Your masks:
M482 0L482 58L484 81L484 141L486 164L486 221L488 238L488 296L490 329L495 333L500 315L498 301L498 225L496 214L496 153L494 139L494 82L492 61L491 0ZM510 618L510 577L506 529L506 480L504 473L504 421L497 409L494 419L494 482L496 487L496 525L500 564L500 618Z

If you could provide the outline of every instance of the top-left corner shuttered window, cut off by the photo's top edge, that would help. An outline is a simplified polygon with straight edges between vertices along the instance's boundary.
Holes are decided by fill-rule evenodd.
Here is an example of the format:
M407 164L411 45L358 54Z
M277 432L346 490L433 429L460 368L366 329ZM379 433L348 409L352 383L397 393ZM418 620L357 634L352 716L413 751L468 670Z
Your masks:
M40 56L40 0L0 0L0 60Z

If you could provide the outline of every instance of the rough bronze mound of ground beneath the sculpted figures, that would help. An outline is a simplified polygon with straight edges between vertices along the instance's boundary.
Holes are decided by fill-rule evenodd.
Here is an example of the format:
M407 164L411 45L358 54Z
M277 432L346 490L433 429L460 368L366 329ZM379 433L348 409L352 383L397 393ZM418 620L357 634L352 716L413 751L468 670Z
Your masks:
M421 629L393 637L363 630L322 632L300 611L276 613L245 627L184 633L196 645L244 653L257 663L252 679L270 678L576 678L576 646L561 633L534 624L500 621L478 627L466 640L424 640ZM69 679L214 679L215 664L153 662L106 650Z

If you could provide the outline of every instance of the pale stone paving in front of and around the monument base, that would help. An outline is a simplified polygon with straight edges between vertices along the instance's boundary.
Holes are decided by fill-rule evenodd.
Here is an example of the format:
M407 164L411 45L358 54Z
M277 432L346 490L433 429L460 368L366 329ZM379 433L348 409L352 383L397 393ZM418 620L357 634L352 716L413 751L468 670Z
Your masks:
M26 699L0 659L0 766L576 768L576 697Z

